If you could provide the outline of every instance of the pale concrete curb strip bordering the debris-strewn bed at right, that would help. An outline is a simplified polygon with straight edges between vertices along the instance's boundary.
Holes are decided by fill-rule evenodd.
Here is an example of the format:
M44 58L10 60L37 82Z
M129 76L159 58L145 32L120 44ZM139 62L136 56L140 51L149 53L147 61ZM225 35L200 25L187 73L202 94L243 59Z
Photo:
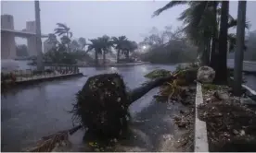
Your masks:
M195 105L195 152L209 152L206 123L198 119L198 105L203 103L201 84L197 83L197 95Z

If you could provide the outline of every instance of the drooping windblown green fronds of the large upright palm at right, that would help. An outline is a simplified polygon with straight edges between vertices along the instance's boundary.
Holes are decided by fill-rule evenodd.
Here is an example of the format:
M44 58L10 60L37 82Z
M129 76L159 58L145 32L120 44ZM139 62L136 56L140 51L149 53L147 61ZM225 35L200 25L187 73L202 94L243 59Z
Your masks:
M219 48L225 50L225 47L223 46L224 44L222 44L223 41L228 42L229 51L233 51L233 48L236 47L236 38L228 37L228 39L222 41L218 41L217 38L218 35L220 35L220 25L222 25L220 22L224 22L224 20L221 20L221 10L223 9L221 1L171 1L167 5L155 11L153 16L159 16L163 11L172 8L173 6L185 4L188 5L188 7L184 12L182 12L178 20L182 20L184 22L184 31L186 32L187 39L198 46L199 58L203 65L210 64L210 53L214 54L216 47L222 45L222 47ZM228 20L225 20L227 25L223 29L236 27L237 19L228 15L228 12L227 16ZM250 25L247 21L246 28L248 29L249 27ZM220 38L224 37L221 36ZM221 44L219 44L219 42L221 42ZM220 52L224 53L225 51ZM214 55L211 57L211 60L215 61L214 58L216 57ZM226 62L223 62L223 64L225 63Z

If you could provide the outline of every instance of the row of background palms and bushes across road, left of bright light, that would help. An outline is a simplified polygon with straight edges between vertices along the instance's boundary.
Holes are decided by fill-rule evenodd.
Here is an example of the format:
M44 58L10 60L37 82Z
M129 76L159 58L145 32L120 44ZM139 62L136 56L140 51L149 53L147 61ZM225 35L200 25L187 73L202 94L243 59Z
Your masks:
M94 52L95 65L98 63L98 55L103 55L103 65L106 64L106 54L111 53L112 49L117 52L117 63L120 63L120 56L125 55L126 61L130 61L130 53L137 49L135 41L128 40L125 36L109 37L104 35L96 39L86 40L81 37L77 40L71 40L72 32L64 24L58 23L58 28L54 33L49 34L46 42L51 45L48 52L45 53L45 63L55 64L77 64L78 61L92 63L93 59L88 54ZM58 38L59 37L59 38ZM86 49L87 47L87 49Z

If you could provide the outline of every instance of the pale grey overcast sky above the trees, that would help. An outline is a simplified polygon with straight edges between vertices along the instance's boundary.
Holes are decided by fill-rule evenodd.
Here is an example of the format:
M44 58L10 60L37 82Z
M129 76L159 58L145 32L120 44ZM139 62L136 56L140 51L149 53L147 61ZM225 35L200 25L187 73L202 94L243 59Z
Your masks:
M93 39L107 34L126 35L132 41L142 41L142 35L153 26L162 29L182 25L176 18L186 6L175 6L159 17L152 13L168 1L40 1L42 33L48 34L56 23L65 23L74 38ZM14 16L15 29L24 29L26 21L34 20L33 1L1 1L1 13ZM230 3L230 14L237 18L237 2ZM250 30L256 29L256 2L248 2L247 17Z

